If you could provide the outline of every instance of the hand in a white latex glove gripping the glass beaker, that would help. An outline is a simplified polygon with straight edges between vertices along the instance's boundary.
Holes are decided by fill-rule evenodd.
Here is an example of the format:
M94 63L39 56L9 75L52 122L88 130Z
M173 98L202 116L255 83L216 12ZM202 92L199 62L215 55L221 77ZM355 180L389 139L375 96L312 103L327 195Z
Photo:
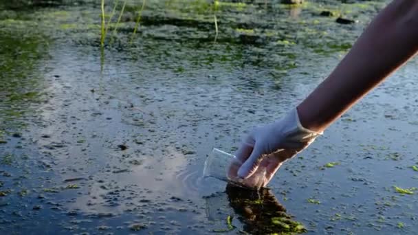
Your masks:
M284 161L307 148L318 135L322 133L310 131L300 124L296 109L282 120L254 128L235 153L243 162L238 176L247 179L259 166L264 166L267 171L265 186Z

